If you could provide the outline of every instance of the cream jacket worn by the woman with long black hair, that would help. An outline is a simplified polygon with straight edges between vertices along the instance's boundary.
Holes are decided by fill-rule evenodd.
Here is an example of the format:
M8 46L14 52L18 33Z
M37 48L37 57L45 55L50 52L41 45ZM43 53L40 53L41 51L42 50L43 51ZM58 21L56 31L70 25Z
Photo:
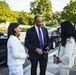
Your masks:
M68 38L66 45L60 47L59 58L62 61L59 65L63 68L71 68L74 65L75 58L75 40L73 37Z

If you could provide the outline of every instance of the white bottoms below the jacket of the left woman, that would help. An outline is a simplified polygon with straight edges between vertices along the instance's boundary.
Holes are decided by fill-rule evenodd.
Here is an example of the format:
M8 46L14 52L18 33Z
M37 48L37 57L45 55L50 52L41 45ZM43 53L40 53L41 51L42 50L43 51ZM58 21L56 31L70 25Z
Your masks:
M9 75L23 75L23 66L22 65L15 65L15 66L8 66L9 68Z

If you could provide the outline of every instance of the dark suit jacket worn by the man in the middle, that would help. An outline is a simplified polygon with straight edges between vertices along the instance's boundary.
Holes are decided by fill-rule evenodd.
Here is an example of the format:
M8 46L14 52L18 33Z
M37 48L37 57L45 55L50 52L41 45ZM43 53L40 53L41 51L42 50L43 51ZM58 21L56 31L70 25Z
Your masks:
M43 51L46 50L46 47L50 47L49 44L49 38L48 38L48 32L47 29L42 27L43 37L44 37L44 48ZM35 60L39 58L39 54L35 51L36 48L39 48L39 38L35 29L35 26L28 29L26 32L25 37L25 46L28 48L28 54L30 55L29 59ZM45 58L48 58L48 53L43 54Z

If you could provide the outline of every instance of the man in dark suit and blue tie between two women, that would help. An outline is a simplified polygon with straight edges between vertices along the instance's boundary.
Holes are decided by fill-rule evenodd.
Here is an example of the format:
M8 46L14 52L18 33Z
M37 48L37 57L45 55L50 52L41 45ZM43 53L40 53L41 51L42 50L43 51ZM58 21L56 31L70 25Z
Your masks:
M31 62L31 75L37 75L39 62L40 75L45 75L48 50L50 49L47 29L42 26L42 18L34 17L34 26L27 30L25 46L28 48L29 60Z

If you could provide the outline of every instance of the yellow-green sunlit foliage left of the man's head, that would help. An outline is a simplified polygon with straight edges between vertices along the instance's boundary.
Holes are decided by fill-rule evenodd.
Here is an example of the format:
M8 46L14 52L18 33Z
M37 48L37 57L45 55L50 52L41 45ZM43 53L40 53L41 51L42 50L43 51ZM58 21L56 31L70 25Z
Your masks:
M2 22L18 22L20 24L32 25L33 14L27 12L17 12L10 10L9 5L5 1L0 1L0 23Z

